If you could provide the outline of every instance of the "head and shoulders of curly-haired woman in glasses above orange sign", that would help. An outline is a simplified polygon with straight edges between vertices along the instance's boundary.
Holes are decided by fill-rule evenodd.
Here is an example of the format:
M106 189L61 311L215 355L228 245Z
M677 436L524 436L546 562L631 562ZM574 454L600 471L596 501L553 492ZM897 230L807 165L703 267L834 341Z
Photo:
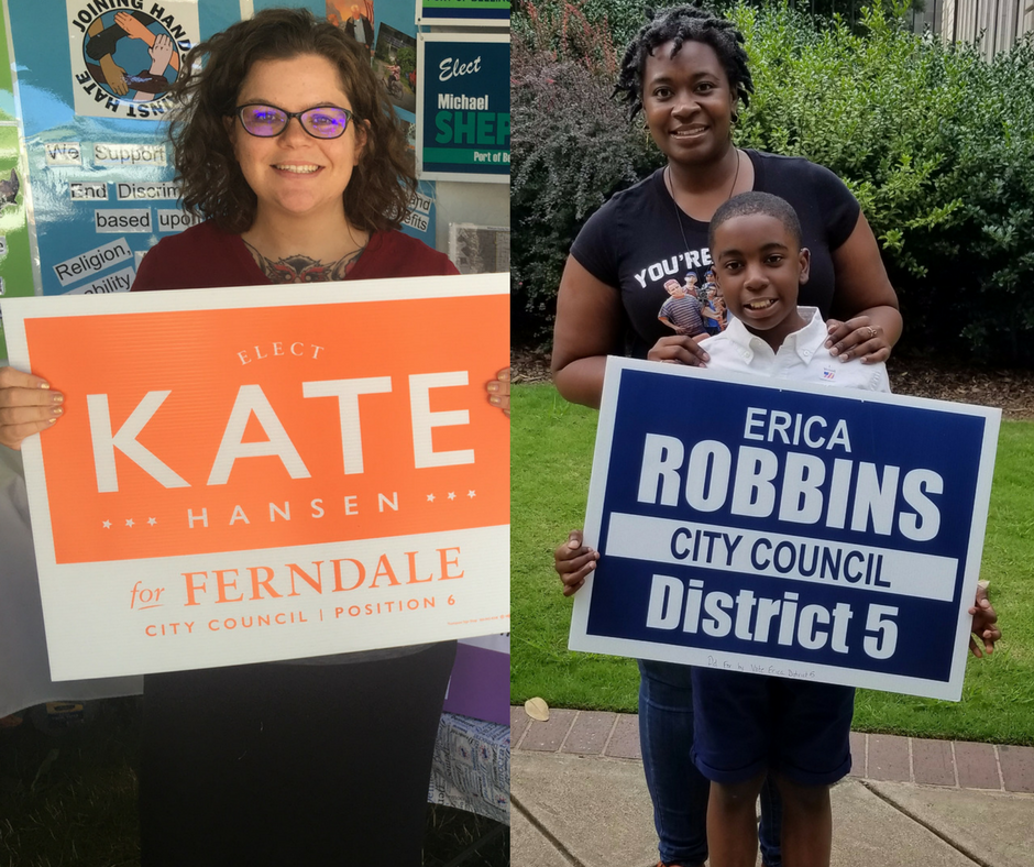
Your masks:
M184 207L205 222L161 241L134 290L457 273L397 231L413 161L353 43L278 9L194 48L170 135Z

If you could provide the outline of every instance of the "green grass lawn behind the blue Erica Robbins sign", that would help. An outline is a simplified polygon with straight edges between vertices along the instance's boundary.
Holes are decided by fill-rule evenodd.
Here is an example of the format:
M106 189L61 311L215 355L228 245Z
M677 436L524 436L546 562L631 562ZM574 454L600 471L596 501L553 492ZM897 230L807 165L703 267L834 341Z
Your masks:
M512 699L635 711L639 674L630 659L566 649L571 600L560 592L552 551L581 527L596 413L550 385L513 394ZM859 690L855 728L916 737L1034 745L1034 424L1002 424L981 577L1003 639L970 658L963 701Z

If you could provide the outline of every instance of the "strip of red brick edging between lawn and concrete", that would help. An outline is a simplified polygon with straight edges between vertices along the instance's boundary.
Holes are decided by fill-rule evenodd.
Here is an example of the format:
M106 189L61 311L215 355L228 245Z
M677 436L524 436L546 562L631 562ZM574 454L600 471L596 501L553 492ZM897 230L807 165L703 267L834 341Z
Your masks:
M539 723L510 707L510 738L518 751L641 760L635 714L551 710ZM1034 794L1034 747L851 732L851 753L856 779Z

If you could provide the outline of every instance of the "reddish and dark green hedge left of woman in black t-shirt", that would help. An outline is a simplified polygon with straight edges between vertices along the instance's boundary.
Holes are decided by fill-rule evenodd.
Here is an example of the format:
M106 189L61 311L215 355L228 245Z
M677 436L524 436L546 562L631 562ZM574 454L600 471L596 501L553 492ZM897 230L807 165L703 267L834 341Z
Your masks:
M618 58L606 17L596 23L568 3L521 12L510 47L510 276L513 331L532 342L548 339L579 227L650 172L657 153L610 99Z

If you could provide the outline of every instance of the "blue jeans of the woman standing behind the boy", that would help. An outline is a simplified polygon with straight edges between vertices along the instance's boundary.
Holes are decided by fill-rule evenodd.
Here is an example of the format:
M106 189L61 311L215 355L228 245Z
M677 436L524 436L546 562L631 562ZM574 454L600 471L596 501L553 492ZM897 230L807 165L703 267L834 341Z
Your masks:
M707 858L707 793L711 783L690 758L693 747L691 668L639 660L639 743L661 860L703 864ZM758 836L767 867L781 867L782 802L776 784L761 788Z

